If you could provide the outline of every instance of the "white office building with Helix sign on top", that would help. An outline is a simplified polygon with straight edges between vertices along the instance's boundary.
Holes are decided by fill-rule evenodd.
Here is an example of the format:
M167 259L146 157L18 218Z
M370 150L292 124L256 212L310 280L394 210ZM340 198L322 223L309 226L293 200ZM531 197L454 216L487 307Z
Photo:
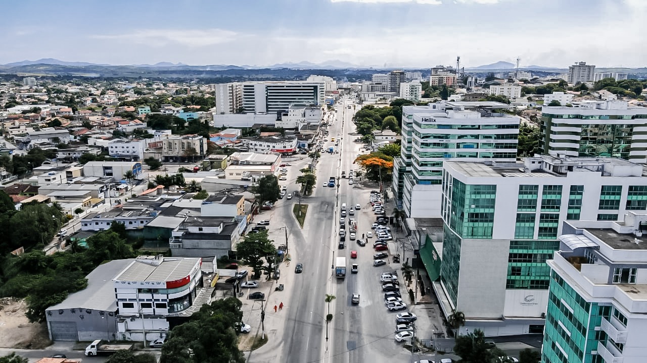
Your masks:
M516 159L519 118L492 112L509 107L489 101L402 107L402 146L392 189L408 216L440 216L444 160Z

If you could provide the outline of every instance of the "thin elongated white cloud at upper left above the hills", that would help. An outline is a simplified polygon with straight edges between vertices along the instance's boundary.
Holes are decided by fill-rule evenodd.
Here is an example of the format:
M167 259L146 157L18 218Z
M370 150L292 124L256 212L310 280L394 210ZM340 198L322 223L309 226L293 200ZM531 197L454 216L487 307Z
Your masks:
M217 45L233 41L237 37L236 32L223 29L140 29L131 33L94 35L93 39L109 39L125 41L127 43L138 43L153 47L165 47L172 44L186 45L188 47L204 47L206 45Z

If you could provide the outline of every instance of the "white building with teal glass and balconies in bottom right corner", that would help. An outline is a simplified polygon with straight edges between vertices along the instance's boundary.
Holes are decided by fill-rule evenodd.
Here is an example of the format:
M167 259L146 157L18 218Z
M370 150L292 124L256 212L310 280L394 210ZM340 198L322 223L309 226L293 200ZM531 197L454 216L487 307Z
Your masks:
M644 202L643 202L644 203ZM564 223L551 267L542 362L647 357L647 215Z

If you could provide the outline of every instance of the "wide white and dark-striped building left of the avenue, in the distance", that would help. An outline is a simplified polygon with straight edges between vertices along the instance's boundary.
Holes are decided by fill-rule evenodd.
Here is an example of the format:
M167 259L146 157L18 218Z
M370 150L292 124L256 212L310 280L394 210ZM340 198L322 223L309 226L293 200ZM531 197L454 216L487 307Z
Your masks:
M320 106L324 101L325 81L243 82L215 87L215 114L276 113L291 105Z

